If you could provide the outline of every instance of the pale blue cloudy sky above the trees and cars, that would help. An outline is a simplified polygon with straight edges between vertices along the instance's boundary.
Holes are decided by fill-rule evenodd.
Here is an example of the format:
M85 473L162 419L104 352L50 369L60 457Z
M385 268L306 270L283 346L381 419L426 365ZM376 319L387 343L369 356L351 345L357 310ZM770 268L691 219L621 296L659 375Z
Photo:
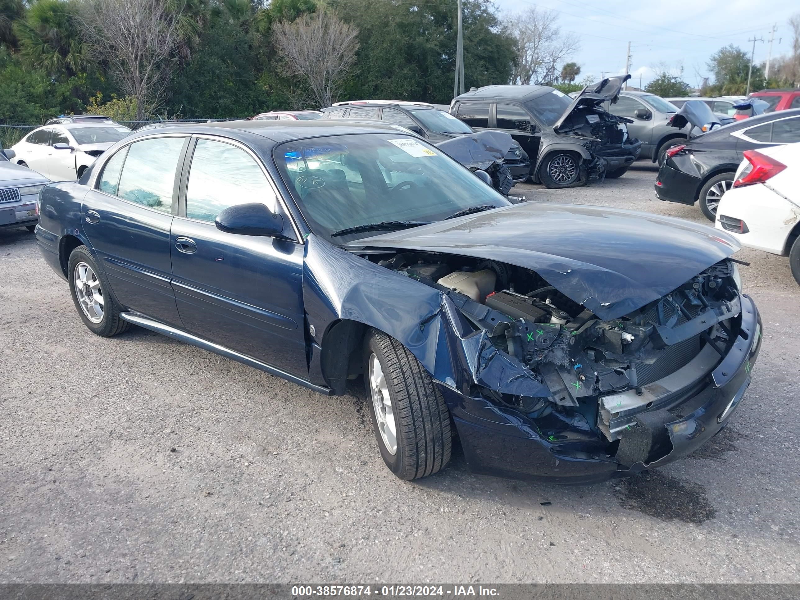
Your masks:
M521 12L531 6L558 11L558 25L581 40L573 59L582 79L594 80L625 72L628 41L633 55L631 83L642 85L654 77L654 67L683 66L682 78L696 87L709 75L706 62L722 46L734 43L748 52L755 44L755 62L766 61L770 30L777 24L772 55L790 51L788 20L800 12L797 0L670 0L670 2L586 2L584 0L495 0L501 14ZM778 38L783 38L778 44ZM677 72L676 72L677 74Z

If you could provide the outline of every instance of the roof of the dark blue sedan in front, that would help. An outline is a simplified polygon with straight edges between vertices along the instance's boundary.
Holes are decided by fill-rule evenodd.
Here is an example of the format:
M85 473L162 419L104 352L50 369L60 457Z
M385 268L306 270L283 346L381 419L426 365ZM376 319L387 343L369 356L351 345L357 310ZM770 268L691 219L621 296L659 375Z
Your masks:
M318 138L326 135L347 134L385 134L410 135L401 126L393 126L382 121L363 122L351 119L316 119L314 121L228 121L217 123L183 123L160 127L158 130L143 132L146 135L170 133L210 134L238 140L239 142L263 142L274 144L293 139ZM139 137L134 132L126 140Z

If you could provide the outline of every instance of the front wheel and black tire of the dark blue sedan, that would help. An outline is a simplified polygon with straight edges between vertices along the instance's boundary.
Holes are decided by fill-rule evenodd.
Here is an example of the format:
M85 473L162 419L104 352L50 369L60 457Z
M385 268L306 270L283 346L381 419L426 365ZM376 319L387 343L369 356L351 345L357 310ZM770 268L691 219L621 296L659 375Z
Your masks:
M391 417L396 431L392 454L378 425L376 394L373 390L372 357L382 370L389 392L391 415L386 414L382 394L377 403L384 408L383 419ZM450 461L452 434L450 411L442 394L425 368L396 339L370 329L364 340L364 382L370 402L370 414L383 462L398 478L410 481L437 473Z

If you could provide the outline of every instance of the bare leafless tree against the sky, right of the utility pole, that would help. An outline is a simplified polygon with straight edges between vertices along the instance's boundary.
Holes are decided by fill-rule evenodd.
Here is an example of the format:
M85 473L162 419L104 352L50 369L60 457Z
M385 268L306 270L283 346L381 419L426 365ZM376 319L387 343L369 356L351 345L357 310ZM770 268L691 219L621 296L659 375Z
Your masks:
M558 28L558 14L535 6L503 19L503 26L516 44L512 83L552 83L561 65L578 51L578 39Z

